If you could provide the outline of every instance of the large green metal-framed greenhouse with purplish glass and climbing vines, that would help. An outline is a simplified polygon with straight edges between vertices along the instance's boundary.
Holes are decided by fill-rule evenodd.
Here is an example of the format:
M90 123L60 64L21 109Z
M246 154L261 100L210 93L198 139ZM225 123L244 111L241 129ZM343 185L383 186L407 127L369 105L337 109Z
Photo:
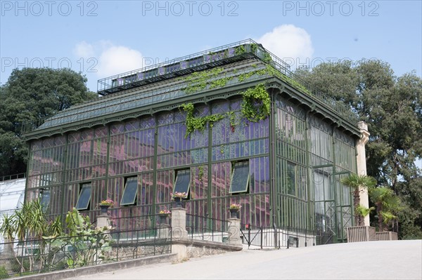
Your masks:
M40 198L49 215L75 207L96 220L104 199L113 217L153 215L186 192L191 215L226 220L236 203L244 225L345 240L352 197L340 179L366 169L364 126L262 45L111 76L98 94L24 127L25 200Z

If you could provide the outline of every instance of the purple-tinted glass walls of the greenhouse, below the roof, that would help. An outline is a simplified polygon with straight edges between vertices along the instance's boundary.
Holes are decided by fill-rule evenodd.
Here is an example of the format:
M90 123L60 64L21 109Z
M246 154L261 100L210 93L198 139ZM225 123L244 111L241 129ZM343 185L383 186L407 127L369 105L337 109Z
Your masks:
M300 91L286 94L274 88L267 90L269 117L248 121L238 90L269 79L267 72L258 74L267 68L257 70L255 62L226 69L236 79L212 78L215 84L238 86L236 90L221 86L187 94L181 85L186 79L179 77L175 87L159 84L151 92L145 87L112 95L104 104L113 101L115 114L96 114L101 100L63 113L85 110L96 121L84 115L80 126L70 122L68 131L51 128L53 132L30 140L26 199L41 197L51 216L76 207L91 220L99 214L98 204L112 199L109 213L115 220L124 218L116 226L140 227L145 220L136 217L172 208L172 193L186 192L191 215L226 220L230 204L236 203L242 206L244 224L314 230L326 241L345 239L345 227L352 225L352 198L340 179L357 172L357 129L347 130L335 123L340 119L321 113L328 109L305 104L307 100L295 96L304 94ZM154 91L165 98L160 100ZM134 97L141 103L129 100ZM155 98L151 104L165 105L146 105L148 98ZM128 100L117 102L122 99ZM195 100L194 117L224 117L186 135L187 113L179 107L185 101L180 100ZM123 107L126 103L131 106ZM44 133L47 125L40 129Z

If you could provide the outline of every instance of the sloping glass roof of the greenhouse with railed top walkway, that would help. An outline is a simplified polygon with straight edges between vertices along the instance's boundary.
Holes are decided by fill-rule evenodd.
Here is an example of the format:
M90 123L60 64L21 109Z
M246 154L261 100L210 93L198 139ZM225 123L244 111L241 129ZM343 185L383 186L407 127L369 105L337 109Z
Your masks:
M184 97L186 94L191 94L186 91L186 84L188 84L186 77L193 72L220 67L222 71L211 79L231 78L224 85L230 86L244 82L238 79L239 75L264 69L268 65L276 70L277 77L290 86L312 95L313 99L333 108L335 112L341 114L348 121L357 123L356 116L345 105L336 102L324 93L316 91L302 81L298 83L297 77L293 72L290 72L289 65L286 62L267 51L262 45L248 39L98 80L98 93L107 96L72 106L48 119L23 124L23 133L107 116L132 108L146 107ZM222 66L224 66L224 69ZM247 81L264 79L269 76L274 76L274 73L260 75L259 77L249 75ZM132 90L128 91L129 89ZM193 94L207 90L210 90L210 86Z

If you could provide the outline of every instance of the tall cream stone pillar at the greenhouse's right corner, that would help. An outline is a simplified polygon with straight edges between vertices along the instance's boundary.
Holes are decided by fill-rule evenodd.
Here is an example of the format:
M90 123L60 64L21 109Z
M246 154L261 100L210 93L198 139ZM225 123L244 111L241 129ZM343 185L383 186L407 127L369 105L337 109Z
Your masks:
M366 175L366 154L365 145L369 140L368 125L364 121L359 121L357 127L360 130L361 138L356 143L356 162L357 162L357 174ZM368 190L361 189L360 192L360 204L366 208L369 208ZM369 215L364 218L365 225L369 226Z

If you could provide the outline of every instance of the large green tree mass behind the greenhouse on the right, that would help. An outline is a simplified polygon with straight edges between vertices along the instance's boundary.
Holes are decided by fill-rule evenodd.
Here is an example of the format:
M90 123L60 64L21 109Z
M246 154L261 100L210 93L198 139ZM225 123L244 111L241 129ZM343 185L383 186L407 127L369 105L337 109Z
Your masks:
M422 157L421 77L397 77L381 60L322 63L295 74L366 121L367 173L402 200L399 235L422 236L422 171L415 164Z

